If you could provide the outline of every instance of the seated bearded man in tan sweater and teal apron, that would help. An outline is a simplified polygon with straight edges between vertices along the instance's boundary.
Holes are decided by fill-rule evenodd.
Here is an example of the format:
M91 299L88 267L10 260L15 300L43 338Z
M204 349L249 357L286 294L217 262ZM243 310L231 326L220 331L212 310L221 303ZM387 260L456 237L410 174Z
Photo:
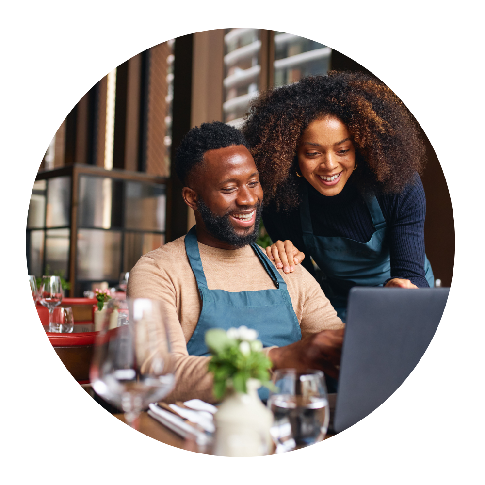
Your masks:
M215 327L256 329L274 369L337 377L344 325L336 311L301 265L286 275L254 243L263 191L243 135L203 123L182 140L175 167L196 226L140 258L127 289L167 304L177 385L165 401L215 402L204 342Z

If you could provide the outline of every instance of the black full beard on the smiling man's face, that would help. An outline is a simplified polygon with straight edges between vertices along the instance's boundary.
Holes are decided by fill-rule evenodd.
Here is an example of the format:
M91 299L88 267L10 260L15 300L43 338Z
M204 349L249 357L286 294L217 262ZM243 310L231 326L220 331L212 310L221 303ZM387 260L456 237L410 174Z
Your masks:
M223 216L217 216L207 207L200 197L197 201L197 209L206 225L206 229L216 239L226 242L236 249L240 249L251 244L251 242L257 241L259 236L259 221L261 220L261 212L263 210L261 203L255 206L256 214L253 229L250 231L248 227L244 234L241 235L234 230L234 226L229 220L229 214L234 212L234 210L227 212Z

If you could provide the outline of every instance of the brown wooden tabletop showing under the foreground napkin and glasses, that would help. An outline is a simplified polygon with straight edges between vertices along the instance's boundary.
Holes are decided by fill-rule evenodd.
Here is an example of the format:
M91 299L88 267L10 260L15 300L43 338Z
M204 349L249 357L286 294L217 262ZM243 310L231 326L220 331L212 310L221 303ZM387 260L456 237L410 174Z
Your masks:
M330 406L330 423L332 423L333 413L335 409L336 394L329 394L328 401ZM113 414L120 421L125 422L123 414ZM169 430L162 423L153 419L148 413L144 412L140 415L138 423L138 431L143 433L150 438L156 439L157 441L162 441L167 445L175 446L181 448L182 450L188 450L196 453L206 453L210 454L210 447L197 446L194 440L184 439L178 436L173 431ZM327 433L324 439L334 436L335 432L331 431ZM274 451L273 451L274 452Z

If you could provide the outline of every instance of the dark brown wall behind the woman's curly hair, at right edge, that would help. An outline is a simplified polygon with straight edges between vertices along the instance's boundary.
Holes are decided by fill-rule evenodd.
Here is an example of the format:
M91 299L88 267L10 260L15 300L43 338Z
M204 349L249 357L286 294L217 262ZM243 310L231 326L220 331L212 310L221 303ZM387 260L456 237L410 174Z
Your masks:
M332 69L362 71L373 75L365 67L340 52L332 51ZM426 143L428 162L422 176L426 194L426 219L424 221L424 241L435 279L441 279L442 286L450 286L454 262L453 210L446 184L435 150L421 129Z

